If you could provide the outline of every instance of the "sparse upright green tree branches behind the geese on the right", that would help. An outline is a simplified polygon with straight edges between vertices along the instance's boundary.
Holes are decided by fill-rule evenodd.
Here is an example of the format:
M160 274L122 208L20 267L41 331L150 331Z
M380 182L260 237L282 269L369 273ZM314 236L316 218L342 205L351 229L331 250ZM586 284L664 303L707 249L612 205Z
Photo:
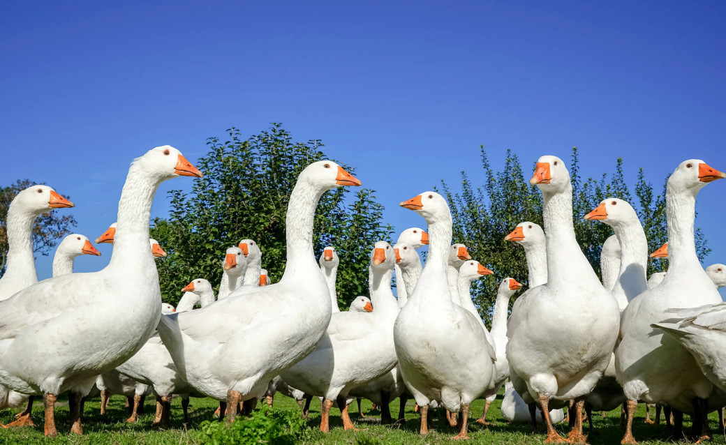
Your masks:
M502 169L497 171L489 162L483 146L480 150L484 184L475 187L468 174L462 171L459 192L452 192L452 188L444 181L441 181L441 188L449 201L454 219L454 242L463 242L468 246L472 258L494 272L492 277L473 282L472 287L472 295L480 314L485 319L490 319L499 282L506 277L513 277L523 284L527 282L523 248L505 241L504 237L522 221L533 221L542 225L542 193L537 187L529 185L534 162L531 168L523 170L517 155L507 150ZM625 181L622 158L616 160L613 173L603 173L599 179L583 180L576 147L572 149L568 170L572 181L575 236L598 276L600 250L603 242L613 234L613 229L597 221L586 221L583 216L606 197L626 200L635 208L648 238L650 251L666 242L668 232L665 184L661 194L655 195L652 184L645 181L643 168L640 168L634 187L637 199L634 200ZM700 229L696 229L696 251L701 259L709 253ZM650 261L648 276L665 270L665 267L664 261Z

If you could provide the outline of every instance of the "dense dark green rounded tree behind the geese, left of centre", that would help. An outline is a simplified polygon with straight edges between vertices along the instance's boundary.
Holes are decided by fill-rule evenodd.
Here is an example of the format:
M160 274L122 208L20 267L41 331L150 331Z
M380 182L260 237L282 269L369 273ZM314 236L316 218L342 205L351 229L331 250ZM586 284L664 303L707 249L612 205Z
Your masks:
M204 178L195 181L188 194L172 190L168 218L155 219L152 226L152 237L168 252L158 271L164 301L169 303L179 300L179 290L192 279L203 277L217 287L225 250L245 238L258 243L262 266L277 282L285 269L290 193L303 168L326 159L319 140L293 142L277 123L248 139L237 128L227 133L224 142L208 139L208 152L196 163ZM339 187L320 200L314 221L315 253L319 256L325 245L338 252L341 308L367 294L370 249L376 241L388 240L393 231L382 217L383 206L370 189L352 192Z

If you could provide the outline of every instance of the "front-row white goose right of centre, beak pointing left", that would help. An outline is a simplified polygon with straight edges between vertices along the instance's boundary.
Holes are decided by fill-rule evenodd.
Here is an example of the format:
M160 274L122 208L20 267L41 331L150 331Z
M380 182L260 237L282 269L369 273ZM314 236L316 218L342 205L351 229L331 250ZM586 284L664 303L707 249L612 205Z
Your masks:
M452 215L446 200L424 192L401 206L423 216L430 237L426 265L393 326L401 375L420 407L421 434L428 433L428 404L439 401L450 412L462 411L455 438L468 438L469 406L492 380L494 349L481 322L455 304L449 290Z

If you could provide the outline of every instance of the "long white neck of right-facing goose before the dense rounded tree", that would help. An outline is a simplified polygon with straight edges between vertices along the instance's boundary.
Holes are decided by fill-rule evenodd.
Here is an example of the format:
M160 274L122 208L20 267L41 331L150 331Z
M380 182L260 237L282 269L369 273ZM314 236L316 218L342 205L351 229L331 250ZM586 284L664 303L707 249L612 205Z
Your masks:
M285 219L287 264L281 282L288 277L305 277L319 273L313 252L313 219L315 209L325 190L318 190L306 181L295 184L287 203Z

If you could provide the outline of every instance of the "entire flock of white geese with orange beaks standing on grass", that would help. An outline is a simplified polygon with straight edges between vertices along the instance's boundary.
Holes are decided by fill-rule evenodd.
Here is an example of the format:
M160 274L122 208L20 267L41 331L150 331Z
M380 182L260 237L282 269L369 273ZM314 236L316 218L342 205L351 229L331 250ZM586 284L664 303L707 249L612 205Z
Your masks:
M261 269L261 248L242 240L222 260L219 295L207 279L182 291L176 311L161 303L155 257L166 256L149 238L152 200L162 181L202 177L179 150L156 147L131 163L118 219L96 242L113 244L99 272L73 273L76 256L100 255L81 234L57 248L53 277L38 282L32 227L54 208L73 207L51 187L20 192L7 214L9 253L0 279L0 407L22 407L4 425L33 425L33 399L42 396L46 436L57 436L54 407L68 392L70 430L83 433L83 399L101 391L102 412L112 393L126 395L129 421L144 397L156 398L155 425L170 425L171 397L220 402L228 421L274 393L292 396L306 412L322 400L320 429L330 429L330 408L343 427L354 399L370 399L384 423L390 401L407 399L428 433L429 409L443 408L454 438L468 438L470 403L486 399L481 417L505 385L502 415L513 422L542 421L546 442L583 443L582 411L623 406L622 443L635 444L632 420L639 401L665 407L680 430L693 418L693 434L709 437L709 411L726 405L726 266L706 270L693 234L698 191L726 173L702 160L686 160L666 189L669 242L653 256L669 258L666 274L646 277L648 242L633 208L603 200L585 219L611 226L603 245L603 281L575 239L570 175L563 161L542 156L530 184L544 200L544 229L529 221L505 238L524 248L529 289L499 285L487 329L470 285L492 271L452 245L452 215L444 197L424 192L401 203L428 224L407 229L391 245L370 253L370 300L357 297L340 311L335 279L340 258L326 247L314 257L313 220L319 198L333 187L361 182L330 160L311 163L298 177L287 208L287 261L280 282ZM425 265L417 249L428 245ZM391 290L395 270L397 297ZM201 309L194 309L196 305ZM571 431L553 424L568 408ZM458 415L457 415L458 413ZM592 423L591 423L592 425ZM591 427L592 428L592 427Z

